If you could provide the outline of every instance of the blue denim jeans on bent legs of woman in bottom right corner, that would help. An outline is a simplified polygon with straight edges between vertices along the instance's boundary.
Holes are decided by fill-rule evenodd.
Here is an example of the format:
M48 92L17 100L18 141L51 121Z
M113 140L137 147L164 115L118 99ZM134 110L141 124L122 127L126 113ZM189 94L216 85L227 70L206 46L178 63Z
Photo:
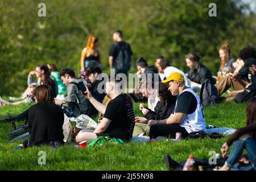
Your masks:
M229 167L234 166L234 164L236 164L237 160L240 158L243 149L247 151L250 163L253 165L254 169L256 169L254 166L254 160L256 158L256 141L250 137L250 135L243 135L236 140L225 164Z

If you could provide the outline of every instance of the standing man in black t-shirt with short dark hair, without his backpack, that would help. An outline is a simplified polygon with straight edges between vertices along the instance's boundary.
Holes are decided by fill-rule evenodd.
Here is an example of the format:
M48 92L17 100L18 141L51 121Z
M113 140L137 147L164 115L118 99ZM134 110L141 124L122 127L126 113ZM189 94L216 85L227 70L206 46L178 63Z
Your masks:
M109 51L109 68L115 69L115 74L118 73L125 73L127 75L127 71L120 71L117 68L115 68L115 60L117 59L118 53L121 51L121 48L124 46L127 49L128 55L133 55L133 52L131 51L130 44L126 43L123 40L123 34L122 31L117 30L113 34L113 40L114 44L112 44L112 47ZM130 57L129 57L130 58Z

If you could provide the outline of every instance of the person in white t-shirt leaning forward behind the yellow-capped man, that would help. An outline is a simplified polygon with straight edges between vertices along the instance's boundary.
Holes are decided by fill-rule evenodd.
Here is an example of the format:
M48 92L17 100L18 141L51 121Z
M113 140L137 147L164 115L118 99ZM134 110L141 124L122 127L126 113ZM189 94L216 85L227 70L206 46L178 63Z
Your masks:
M181 71L180 69L177 69L175 67L171 67L169 61L166 58L162 58L160 60L159 69L160 69L160 72L164 73L165 78L167 78L169 75L171 75L171 73L175 73L175 72L180 73L184 77L185 86L190 87L189 79L185 75L185 73L183 71Z

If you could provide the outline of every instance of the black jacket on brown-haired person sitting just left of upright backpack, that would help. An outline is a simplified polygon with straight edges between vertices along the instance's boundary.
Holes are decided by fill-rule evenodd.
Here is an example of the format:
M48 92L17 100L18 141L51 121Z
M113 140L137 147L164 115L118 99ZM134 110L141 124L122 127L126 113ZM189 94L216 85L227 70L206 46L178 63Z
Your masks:
M210 70L200 63L198 69L192 68L189 70L188 78L197 84L203 84L207 79L209 79L212 84L216 84L216 80L212 77Z

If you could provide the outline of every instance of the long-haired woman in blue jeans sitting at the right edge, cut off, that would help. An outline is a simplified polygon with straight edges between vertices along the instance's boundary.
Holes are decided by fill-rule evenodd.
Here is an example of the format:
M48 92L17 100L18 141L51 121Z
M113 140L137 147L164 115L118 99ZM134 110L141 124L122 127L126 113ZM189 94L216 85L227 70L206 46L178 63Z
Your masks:
M226 158L229 147L234 142L228 159L220 168L221 171L228 171L233 167L240 158L243 149L247 151L250 163L256 169L256 97L248 102L245 113L247 126L238 129L221 147L222 156Z

